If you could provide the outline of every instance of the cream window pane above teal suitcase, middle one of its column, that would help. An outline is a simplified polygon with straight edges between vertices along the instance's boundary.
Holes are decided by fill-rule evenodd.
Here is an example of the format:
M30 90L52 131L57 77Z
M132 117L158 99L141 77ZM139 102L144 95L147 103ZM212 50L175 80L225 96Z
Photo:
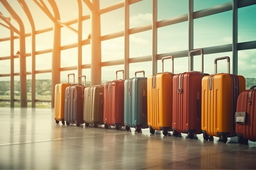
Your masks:
M152 30L130 35L130 58L152 55Z

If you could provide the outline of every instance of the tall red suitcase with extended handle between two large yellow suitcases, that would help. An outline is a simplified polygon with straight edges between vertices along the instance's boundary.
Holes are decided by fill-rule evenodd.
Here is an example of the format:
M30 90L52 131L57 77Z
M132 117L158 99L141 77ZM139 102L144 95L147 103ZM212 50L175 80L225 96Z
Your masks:
M193 53L200 52L202 72L189 71L173 76L173 135L188 134L190 139L195 134L202 133L201 129L201 92L203 73L203 49L189 52L190 63L193 64ZM192 67L190 67L191 69Z

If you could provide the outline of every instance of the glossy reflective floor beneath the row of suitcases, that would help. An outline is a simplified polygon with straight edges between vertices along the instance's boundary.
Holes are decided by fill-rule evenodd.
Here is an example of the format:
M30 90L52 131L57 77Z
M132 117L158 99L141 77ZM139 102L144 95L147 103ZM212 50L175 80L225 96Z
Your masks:
M67 126L50 108L0 108L0 120L0 169L256 169L256 142L236 137Z

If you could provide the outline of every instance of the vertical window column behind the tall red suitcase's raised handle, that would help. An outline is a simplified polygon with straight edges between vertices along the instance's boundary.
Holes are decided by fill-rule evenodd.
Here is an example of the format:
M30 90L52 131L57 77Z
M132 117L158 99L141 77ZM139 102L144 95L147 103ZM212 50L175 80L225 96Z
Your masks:
M189 20L189 51L193 50L194 48L194 43L193 43L193 39L194 39L194 18L193 18L193 12L194 12L194 0L189 0L189 15L188 15L188 20ZM189 51L188 51L188 56L189 56ZM189 71L193 70L193 58L190 62L190 59L188 57L189 60Z

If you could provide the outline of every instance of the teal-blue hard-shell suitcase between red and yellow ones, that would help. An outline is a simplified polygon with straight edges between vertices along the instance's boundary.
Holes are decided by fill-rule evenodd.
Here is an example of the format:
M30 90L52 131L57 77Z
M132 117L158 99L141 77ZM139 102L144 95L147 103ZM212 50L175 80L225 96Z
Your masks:
M143 77L137 77L137 73L143 73ZM144 71L136 71L134 78L124 81L124 125L135 128L137 132L141 132L141 128L148 128L146 91Z

